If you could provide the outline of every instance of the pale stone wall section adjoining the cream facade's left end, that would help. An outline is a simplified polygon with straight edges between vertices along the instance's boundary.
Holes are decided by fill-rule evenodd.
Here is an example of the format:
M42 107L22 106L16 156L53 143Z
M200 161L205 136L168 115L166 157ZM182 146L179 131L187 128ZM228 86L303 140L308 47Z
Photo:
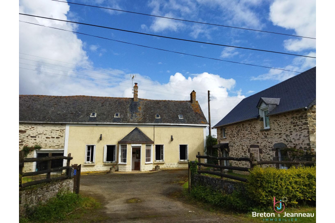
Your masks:
M39 144L42 148L64 148L65 124L18 124L18 148Z

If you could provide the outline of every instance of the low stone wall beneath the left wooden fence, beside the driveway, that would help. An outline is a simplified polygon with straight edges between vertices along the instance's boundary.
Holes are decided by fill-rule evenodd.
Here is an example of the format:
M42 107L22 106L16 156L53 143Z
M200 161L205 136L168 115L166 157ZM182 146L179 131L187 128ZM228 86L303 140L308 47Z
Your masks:
M73 179L64 179L47 184L36 185L19 191L19 214L25 215L27 207L33 207L38 203L44 203L58 192L72 192Z

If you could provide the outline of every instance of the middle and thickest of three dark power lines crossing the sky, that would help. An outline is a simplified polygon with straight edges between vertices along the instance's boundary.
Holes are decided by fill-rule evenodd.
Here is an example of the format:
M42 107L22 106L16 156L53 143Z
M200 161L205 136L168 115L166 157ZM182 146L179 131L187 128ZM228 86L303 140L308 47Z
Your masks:
M136 34L142 34L142 35L156 36L156 37L161 37L161 38L169 38L169 39L175 39L175 40L181 40L181 41L196 42L196 43L202 43L202 44L218 45L218 46L225 46L225 47L232 47L232 48L240 48L240 49L249 49L249 50L263 51L263 52L271 52L271 53L279 53L279 54L285 54L285 55L294 55L294 56L302 56L302 57L316 58L316 57L314 57L314 56L307 56L307 55L293 54L293 53L287 53L287 52L279 52L279 51L272 51L272 50L265 50L265 49L255 49L255 48L248 48L248 47L241 47L241 46L234 46L234 45L225 45L225 44L212 43L212 42L202 42L202 41L196 41L196 40L190 40L190 39L183 39L183 38L169 37L169 36L164 36L164 35L155 35L155 34L149 34L149 33L143 33L143 32L137 32L137 31L126 30L126 29L120 29L120 28L112 28L112 27L107 27L107 26L102 26L102 25L94 25L94 24L83 23L83 22L77 22L77 21L63 20L63 19L57 19L57 18L49 18L49 17L44 17L44 16L32 15L32 14L25 14L25 13L18 13L18 14L26 15L26 16L32 16L32 17L38 17L38 18L46 18L46 19L56 20L56 21L65 21L65 22L71 22L71 23L76 23L76 24L89 25L89 26L100 27L100 28L108 28L108 29L112 29L112 30L125 31L125 32L136 33Z

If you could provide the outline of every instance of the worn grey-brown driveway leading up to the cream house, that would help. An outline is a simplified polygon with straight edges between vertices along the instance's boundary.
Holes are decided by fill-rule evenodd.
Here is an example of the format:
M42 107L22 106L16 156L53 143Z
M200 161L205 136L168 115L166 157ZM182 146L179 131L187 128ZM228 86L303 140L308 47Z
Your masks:
M186 169L82 175L80 193L98 199L103 222L238 222L181 198Z

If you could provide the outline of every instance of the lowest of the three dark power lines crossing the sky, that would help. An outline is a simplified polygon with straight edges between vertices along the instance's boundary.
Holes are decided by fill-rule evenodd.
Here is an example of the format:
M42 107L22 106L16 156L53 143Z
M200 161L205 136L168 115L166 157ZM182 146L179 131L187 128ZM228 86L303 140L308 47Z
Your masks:
M21 21L21 20L19 20L19 21ZM217 59L217 58L200 56L200 55L194 55L194 54L189 54L189 53L184 53L184 52L172 51L172 50L168 50L168 49L161 49L161 48L156 48L156 47L151 47L151 46L146 46L146 45L140 45L140 44L125 42L125 41L115 40L115 39L111 39L111 38L101 37L101 36L97 36L97 35L91 35L91 34L87 34L87 33L66 30L66 29L62 29L62 28L55 28L55 27L41 25L41 24L36 24L36 23L32 23L32 22L27 22L27 21L21 21L21 22L25 22L25 23L29 23L29 24L34 24L34 25L39 25L39 26L48 27L48 28L59 29L59 30L63 30L63 31L74 32L74 33L83 34L83 35L89 35L89 36L93 36L93 37L97 37L97 38L103 38L103 39L107 39L107 40L111 40L111 41L116 41L116 42L122 42L122 43L126 43L126 44L131 44L131 45L142 46L142 47L151 48L151 49L157 49L157 50L162 50L162 51L167 51L167 52L174 52L174 53L183 54L183 55L190 55L190 56L196 56L196 57L200 57L200 58L219 60L219 61L224 61L224 62L232 62L232 63L238 63L238 64L243 64L243 65L258 66L258 67L263 67L263 68L278 69L278 70L283 70L283 71L300 73L300 71L281 69L281 68L274 68L274 67L270 67L270 66L255 65L255 64L251 64L251 63L236 62L236 61L230 61L230 60L225 60L225 59Z

